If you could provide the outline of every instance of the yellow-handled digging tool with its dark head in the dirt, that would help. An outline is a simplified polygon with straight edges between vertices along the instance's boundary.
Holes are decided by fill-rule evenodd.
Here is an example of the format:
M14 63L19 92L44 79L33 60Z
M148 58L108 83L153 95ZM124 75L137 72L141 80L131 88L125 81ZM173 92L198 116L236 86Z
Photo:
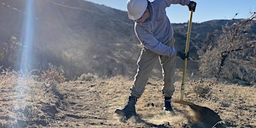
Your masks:
M188 35L187 35L186 49L185 49L186 56L188 55L188 49L189 49L189 38L191 33L192 16L193 16L193 10L191 10L190 19L189 19ZM212 111L212 109L198 106L193 102L188 102L186 100L183 100L187 62L188 62L188 58L185 58L182 84L180 89L180 100L177 100L175 102L183 105L188 105L191 108L191 110L195 113L195 115L189 119L189 122L191 124L200 123L200 124L203 124L205 127L214 127L214 126L225 127L225 123L221 121L220 116L214 111Z

